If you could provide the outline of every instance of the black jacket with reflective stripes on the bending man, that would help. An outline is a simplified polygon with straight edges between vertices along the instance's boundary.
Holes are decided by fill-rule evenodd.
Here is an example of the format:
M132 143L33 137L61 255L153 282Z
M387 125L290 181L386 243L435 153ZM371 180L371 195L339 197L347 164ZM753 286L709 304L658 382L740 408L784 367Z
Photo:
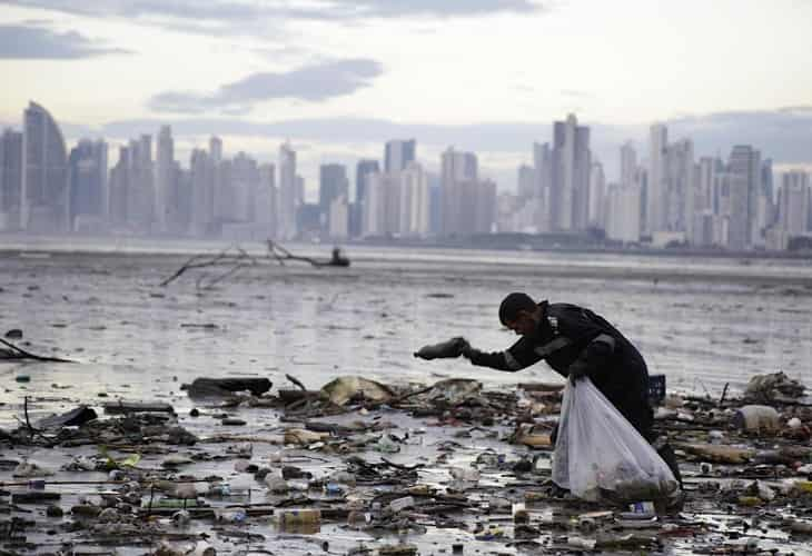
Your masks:
M588 309L568 304L538 305L542 317L533 335L523 336L505 351L472 350L471 363L516 371L541 360L567 377L575 365L628 419L652 439L648 370L640 351L615 327Z

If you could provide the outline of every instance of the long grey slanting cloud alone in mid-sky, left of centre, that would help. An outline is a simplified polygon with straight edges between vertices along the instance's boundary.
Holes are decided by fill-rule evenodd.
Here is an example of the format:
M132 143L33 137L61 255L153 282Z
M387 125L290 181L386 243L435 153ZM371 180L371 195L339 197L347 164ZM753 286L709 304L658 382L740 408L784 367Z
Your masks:
M211 95L168 91L154 96L149 107L158 112L202 113L225 110L245 113L258 101L289 98L319 101L350 95L368 87L383 66L368 59L328 60L287 72L261 72L224 85Z

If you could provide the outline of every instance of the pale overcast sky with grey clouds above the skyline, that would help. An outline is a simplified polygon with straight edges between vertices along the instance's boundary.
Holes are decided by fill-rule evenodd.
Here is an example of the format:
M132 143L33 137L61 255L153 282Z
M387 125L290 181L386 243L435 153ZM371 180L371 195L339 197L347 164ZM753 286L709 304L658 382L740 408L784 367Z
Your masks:
M0 122L31 99L71 141L171 123L184 165L211 132L261 160L289 137L310 187L412 136L512 187L573 111L610 178L653 121L809 163L811 26L810 0L0 0Z

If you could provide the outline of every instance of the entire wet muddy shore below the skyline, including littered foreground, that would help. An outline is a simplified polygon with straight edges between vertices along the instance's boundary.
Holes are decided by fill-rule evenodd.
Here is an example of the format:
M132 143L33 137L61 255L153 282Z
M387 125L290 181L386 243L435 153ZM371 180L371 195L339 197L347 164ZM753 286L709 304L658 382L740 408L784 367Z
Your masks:
M182 252L3 257L0 334L79 363L0 364L0 550L811 553L810 399L768 399L774 426L734 425L751 377L812 384L809 266L384 255L263 264L210 288L199 276L158 286ZM720 265L725 281L709 278ZM562 381L543 365L512 375L412 357L457 335L503 349L514 338L495 309L515 289L604 314L666 376L657 426L679 448L682 513L630 519L555 496L545 438ZM200 377L273 386L191 396ZM338 377L388 394L325 401ZM97 418L40 424L80 405Z

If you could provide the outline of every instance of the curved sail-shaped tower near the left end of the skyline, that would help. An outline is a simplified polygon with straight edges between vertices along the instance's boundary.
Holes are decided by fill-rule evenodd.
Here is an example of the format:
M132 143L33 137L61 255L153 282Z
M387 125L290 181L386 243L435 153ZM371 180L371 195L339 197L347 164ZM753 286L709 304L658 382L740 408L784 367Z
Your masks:
M68 151L51 115L29 103L23 113L20 224L27 231L70 229Z

